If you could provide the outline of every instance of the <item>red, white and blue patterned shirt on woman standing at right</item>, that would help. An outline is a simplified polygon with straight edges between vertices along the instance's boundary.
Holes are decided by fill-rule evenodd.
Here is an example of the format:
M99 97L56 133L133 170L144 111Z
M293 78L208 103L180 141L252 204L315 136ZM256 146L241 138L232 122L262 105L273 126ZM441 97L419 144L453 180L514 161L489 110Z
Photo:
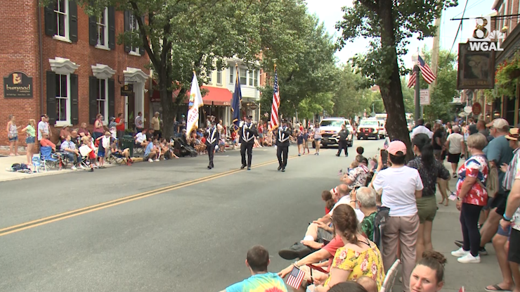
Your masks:
M457 194L462 189L462 183L466 177L476 177L482 184L486 182L489 168L488 160L485 155L474 155L459 168L459 180L457 181ZM462 203L484 206L488 203L488 192L482 184L475 182L468 193L462 199Z

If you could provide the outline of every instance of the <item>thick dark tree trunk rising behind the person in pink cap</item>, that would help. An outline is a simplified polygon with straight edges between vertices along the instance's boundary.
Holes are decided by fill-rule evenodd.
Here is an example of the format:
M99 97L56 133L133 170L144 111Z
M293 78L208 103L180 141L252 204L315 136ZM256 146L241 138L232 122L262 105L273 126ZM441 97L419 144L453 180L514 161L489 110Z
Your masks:
M381 18L381 44L384 55L384 67L391 69L390 76L380 77L384 82L379 82L379 89L388 117L386 118L386 131L390 140L400 140L406 144L407 158L413 157L410 133L405 118L405 103L399 78L397 63L396 37L394 35L394 18L392 17L392 1L379 1L379 18ZM383 71L384 72L384 71Z

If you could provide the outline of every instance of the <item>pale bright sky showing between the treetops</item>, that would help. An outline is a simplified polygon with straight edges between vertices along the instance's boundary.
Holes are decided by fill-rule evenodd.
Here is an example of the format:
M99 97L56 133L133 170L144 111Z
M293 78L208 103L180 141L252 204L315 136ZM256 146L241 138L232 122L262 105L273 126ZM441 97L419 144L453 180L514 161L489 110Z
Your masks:
M327 2L327 5L324 5L324 1ZM355 1L355 0L354 0ZM464 13L464 17L472 17L472 16L481 16L488 15L492 13L491 6L493 5L494 0L468 0L467 9ZM320 21L325 23L325 27L327 27L328 32L330 34L335 34L339 36L339 32L337 32L334 28L334 25L337 21L342 19L342 6L351 6L353 0L307 0L307 7L310 13L316 13ZM441 18L441 49L450 50L453 40L455 39L455 34L457 34L457 28L459 27L460 20L450 20L451 18L461 18L462 11L464 11L464 4L466 4L465 0L459 0L459 5L448 8L446 11L443 11L443 15ZM454 52L458 51L458 43L466 42L467 39L473 33L475 28L475 24L473 21L464 20L462 22L462 32L459 32L457 36L457 41L455 42L455 46L453 46ZM433 38L424 39L423 41L419 41L416 38L410 39L410 44L408 45L408 55L403 57L403 61L408 66L408 68L412 67L412 53L417 51L417 47L422 48L424 45L431 48L433 44ZM341 63L346 63L352 56L356 53L363 53L366 51L366 47L368 46L368 40L366 39L356 39L356 42L349 43L347 46L336 53L337 58Z

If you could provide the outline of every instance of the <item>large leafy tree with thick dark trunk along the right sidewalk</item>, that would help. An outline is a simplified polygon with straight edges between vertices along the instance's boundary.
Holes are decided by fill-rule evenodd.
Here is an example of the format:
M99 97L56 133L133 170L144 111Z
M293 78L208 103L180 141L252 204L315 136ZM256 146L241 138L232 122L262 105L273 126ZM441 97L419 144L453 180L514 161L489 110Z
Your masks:
M388 113L386 129L390 139L403 141L408 157L413 153L401 89L400 76L406 71L401 56L407 53L408 37L432 37L436 32L434 19L443 8L456 4L457 0L424 0L419 5L415 0L360 0L354 1L352 7L344 7L343 20L337 23L342 30L340 48L356 37L372 39L368 53L355 56L353 64L372 84L379 85Z

